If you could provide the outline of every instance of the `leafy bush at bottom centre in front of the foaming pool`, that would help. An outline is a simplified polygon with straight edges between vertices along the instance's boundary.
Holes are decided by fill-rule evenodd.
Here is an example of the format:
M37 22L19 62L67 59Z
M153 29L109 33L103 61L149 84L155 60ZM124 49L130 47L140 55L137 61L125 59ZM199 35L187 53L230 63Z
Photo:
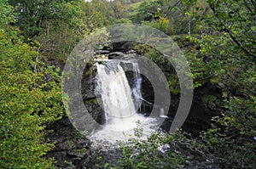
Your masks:
M147 141L131 140L121 148L119 168L177 168L186 157L178 151L176 140L183 140L179 132L173 135L156 132Z

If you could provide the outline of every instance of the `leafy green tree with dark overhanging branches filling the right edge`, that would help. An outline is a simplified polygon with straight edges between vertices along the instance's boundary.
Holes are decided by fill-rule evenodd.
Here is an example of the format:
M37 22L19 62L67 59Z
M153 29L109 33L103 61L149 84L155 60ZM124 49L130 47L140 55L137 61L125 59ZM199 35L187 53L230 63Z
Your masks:
M207 2L212 11L203 23L212 32L190 37L198 49L187 54L194 76L199 77L195 82L204 80L222 95L216 93L211 99L219 115L196 139L200 143L196 149L222 167L254 168L255 6L253 1ZM201 60L201 67L196 67L196 60Z

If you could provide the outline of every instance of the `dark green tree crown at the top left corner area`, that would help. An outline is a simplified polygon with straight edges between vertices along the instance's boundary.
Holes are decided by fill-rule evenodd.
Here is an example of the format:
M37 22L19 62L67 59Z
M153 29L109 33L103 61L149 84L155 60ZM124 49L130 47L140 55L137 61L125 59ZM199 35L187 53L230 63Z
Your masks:
M46 28L46 20L61 19L63 14L65 14L63 5L72 1L9 0L8 2L15 8L15 12L18 14L15 25L20 27L20 30L26 37L35 37Z

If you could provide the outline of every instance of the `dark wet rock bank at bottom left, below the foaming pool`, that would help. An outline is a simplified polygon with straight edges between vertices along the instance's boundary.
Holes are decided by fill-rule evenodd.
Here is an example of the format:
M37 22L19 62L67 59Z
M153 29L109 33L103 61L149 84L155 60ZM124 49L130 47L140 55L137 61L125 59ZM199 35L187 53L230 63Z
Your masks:
M119 149L92 147L90 140L73 127L67 116L49 124L46 129L53 131L46 139L56 144L45 158L54 158L56 168L99 168L107 162L118 165L121 154Z

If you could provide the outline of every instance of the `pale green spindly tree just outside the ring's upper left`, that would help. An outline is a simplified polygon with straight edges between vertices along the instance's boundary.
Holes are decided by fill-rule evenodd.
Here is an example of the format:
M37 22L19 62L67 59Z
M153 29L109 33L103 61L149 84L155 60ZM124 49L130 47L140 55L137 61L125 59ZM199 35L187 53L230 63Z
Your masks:
M84 2L80 1L61 3L55 17L44 20L44 31L38 37L33 37L40 43L40 58L65 63L68 54L89 31L84 20L83 7Z

